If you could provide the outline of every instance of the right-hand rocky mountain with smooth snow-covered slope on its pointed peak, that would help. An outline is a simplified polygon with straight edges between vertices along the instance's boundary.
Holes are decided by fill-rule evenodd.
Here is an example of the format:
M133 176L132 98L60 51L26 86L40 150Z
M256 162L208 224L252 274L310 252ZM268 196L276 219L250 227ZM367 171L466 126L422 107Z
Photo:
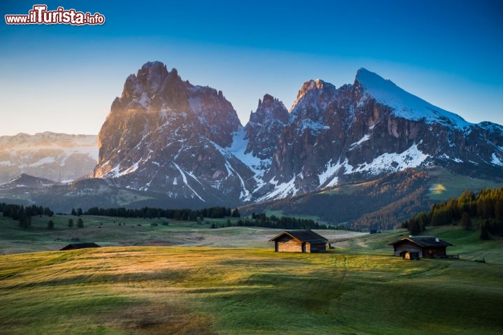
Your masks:
M275 187L261 199L433 165L501 177L503 127L469 123L360 69L339 89L323 80L302 85L265 174Z

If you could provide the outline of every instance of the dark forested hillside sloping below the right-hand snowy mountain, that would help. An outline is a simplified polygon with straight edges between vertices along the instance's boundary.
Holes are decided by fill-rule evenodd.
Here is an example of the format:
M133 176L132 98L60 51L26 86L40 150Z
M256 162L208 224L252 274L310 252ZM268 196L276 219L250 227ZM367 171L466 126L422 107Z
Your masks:
M341 185L240 209L244 215L265 211L282 211L287 216L312 215L341 229L394 229L434 204L426 197L432 180L424 171L407 169L372 182Z

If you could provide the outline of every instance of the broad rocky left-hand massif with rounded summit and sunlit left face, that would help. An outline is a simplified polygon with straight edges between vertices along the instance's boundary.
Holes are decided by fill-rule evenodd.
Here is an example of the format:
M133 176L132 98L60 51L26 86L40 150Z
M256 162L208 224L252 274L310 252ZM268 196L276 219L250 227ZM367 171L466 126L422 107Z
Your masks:
M221 91L148 62L126 79L101 127L94 177L170 199L240 204L255 184L254 172L229 151L243 133Z

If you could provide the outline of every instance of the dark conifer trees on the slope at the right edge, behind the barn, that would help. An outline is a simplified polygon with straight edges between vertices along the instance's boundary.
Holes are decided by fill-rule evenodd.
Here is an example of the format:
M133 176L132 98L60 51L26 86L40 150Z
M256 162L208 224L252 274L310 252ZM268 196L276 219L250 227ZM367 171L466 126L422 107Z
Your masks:
M474 227L473 221L479 222ZM480 229L482 239L503 234L503 187L484 189L479 193L462 192L460 197L435 204L429 212L421 212L402 222L402 228L417 235L428 226L461 224L463 229Z

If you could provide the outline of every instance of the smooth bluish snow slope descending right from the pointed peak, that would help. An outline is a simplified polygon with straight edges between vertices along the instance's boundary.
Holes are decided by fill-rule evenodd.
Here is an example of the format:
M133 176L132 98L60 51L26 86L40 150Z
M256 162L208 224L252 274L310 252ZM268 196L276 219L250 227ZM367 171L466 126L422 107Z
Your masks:
M376 73L359 69L356 80L379 103L393 108L398 117L426 123L437 122L457 129L466 129L472 123L465 121L457 114L444 111L442 108L402 90L391 80L385 80Z

